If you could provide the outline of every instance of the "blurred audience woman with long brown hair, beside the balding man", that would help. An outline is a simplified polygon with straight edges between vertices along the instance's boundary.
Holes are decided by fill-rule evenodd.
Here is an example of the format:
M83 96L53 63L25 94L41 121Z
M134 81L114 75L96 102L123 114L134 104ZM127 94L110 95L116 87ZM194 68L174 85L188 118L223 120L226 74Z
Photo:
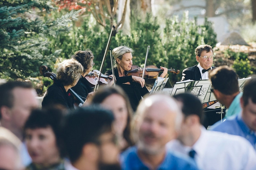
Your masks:
M116 86L99 89L92 98L91 103L101 104L112 110L115 121L113 123L118 143L122 150L134 145L131 139L132 108L127 95L122 88Z

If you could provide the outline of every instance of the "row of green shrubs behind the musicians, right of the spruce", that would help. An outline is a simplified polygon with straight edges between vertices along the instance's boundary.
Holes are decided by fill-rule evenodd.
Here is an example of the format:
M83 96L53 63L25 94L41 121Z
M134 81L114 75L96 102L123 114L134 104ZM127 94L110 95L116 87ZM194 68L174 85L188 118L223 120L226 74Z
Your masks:
M95 25L93 20L84 19L80 27L73 26L67 34L58 35L51 39L51 51L56 47L63 49L60 56L69 58L77 50L90 49L95 56L94 69L99 69L107 45L110 30L103 30ZM147 46L150 46L147 65L157 67L172 67L181 72L186 67L197 64L194 50L200 44L216 44L216 34L211 23L205 20L204 25L198 26L196 19L188 20L188 16L179 21L177 18L166 20L165 30L161 32L158 19L147 15L145 21L131 18L131 35L124 35L122 31L112 38L110 48L126 45L134 50L133 64L143 67ZM107 53L104 69L111 68L109 52ZM176 81L180 81L181 73L170 75L171 87Z

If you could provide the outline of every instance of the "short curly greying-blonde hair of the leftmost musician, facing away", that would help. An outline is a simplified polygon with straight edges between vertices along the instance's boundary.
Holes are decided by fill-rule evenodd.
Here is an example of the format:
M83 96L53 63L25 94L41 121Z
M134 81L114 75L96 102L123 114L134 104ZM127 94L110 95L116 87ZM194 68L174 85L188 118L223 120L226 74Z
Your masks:
M83 74L84 68L81 63L76 61L75 59L64 60L59 63L59 67L57 68L57 77L64 86L73 85L75 81L77 81L81 74Z

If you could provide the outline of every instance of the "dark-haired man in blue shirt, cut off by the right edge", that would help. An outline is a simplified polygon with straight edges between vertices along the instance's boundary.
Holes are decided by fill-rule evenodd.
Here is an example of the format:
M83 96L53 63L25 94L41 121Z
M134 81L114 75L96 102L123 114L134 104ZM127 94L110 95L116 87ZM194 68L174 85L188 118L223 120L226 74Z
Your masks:
M256 78L245 82L243 95L240 99L241 114L230 117L213 127L214 131L226 132L246 138L256 149Z

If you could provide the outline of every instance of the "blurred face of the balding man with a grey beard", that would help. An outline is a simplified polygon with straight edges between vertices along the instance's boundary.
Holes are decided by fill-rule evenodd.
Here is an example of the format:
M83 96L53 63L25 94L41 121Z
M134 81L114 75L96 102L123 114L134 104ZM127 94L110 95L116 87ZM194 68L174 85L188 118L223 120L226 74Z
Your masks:
M143 113L138 132L138 149L147 154L165 151L165 144L175 138L176 114L168 107L152 105Z

